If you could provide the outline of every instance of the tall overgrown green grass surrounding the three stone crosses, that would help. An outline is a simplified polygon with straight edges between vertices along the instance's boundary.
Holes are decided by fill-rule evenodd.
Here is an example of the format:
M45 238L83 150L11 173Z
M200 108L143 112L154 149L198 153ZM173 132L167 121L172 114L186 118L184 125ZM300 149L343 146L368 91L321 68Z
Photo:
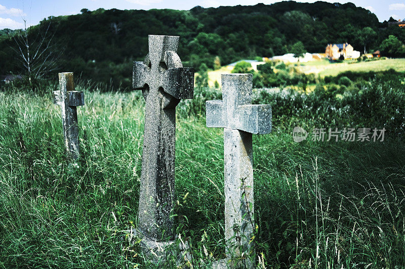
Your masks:
M83 155L75 165L64 154L52 89L0 91L0 268L175 268L152 263L125 240L137 221L139 91L78 88L86 105L78 108ZM403 94L388 93L373 94L373 103L385 103L389 117L396 107L402 115ZM294 126L361 126L362 114L335 109L335 101L308 107L302 96L255 96L256 103L273 103L274 119L273 132L253 140L255 246L265 266L405 266L403 134L384 142L294 143ZM216 98L217 90L196 89L177 107L176 225L192 254L182 268L209 267L225 253L223 131L205 126L204 111L205 100ZM373 119L382 116L372 116L378 127Z

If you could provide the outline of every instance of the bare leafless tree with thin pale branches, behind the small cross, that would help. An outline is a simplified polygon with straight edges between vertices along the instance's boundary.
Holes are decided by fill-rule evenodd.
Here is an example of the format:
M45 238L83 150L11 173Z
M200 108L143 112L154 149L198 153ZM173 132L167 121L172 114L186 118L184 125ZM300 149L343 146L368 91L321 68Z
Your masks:
M17 45L12 48L17 53L17 60L22 64L30 83L31 79L42 78L56 70L57 55L52 45L55 33L50 34L50 26L51 22L44 30L38 29L34 35L33 27L27 28L24 20L24 29L12 37Z

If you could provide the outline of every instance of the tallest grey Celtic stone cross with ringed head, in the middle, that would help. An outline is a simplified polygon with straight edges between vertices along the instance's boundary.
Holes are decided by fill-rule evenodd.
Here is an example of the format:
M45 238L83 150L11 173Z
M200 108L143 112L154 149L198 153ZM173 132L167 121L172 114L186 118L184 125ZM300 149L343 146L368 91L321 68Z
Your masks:
M134 63L133 88L146 101L138 230L161 241L173 237L176 105L193 98L194 69L183 68L178 36L149 35L149 53Z

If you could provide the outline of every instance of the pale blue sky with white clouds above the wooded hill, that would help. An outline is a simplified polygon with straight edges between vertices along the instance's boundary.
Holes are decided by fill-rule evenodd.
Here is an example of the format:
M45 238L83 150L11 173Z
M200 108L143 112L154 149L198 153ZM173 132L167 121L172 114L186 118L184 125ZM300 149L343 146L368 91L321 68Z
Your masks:
M36 25L39 21L50 16L73 15L80 13L81 9L177 9L189 10L195 6L204 8L236 5L266 5L278 1L273 0L0 0L0 29L24 28L24 20L27 27ZM297 1L314 3L317 0ZM405 1L400 0L323 0L325 2L341 4L351 2L358 7L363 7L377 15L382 22L389 17L394 19L405 18Z

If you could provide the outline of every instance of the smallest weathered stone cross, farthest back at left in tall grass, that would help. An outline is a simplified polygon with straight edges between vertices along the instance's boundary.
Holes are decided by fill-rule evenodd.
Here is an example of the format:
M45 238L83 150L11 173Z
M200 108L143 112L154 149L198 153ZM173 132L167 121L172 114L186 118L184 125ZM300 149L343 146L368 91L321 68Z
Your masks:
M76 106L85 104L83 91L75 91L73 73L59 73L59 90L54 91L54 103L62 110L62 127L65 147L69 157L79 156L79 141Z

